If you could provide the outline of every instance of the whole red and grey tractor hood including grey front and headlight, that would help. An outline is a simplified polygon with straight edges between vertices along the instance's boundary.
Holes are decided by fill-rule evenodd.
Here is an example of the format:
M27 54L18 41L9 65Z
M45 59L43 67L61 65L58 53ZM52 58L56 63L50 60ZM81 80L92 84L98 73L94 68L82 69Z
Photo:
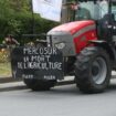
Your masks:
M80 51L75 43L81 39L85 40L85 36L87 40L93 39L95 36L93 30L95 31L95 22L91 20L61 24L48 32L48 44L56 46L63 56L73 56Z

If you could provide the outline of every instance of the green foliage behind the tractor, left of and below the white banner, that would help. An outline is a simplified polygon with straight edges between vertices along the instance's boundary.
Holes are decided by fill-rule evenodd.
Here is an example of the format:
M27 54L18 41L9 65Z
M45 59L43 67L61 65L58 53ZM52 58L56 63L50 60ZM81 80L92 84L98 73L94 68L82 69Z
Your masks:
M21 34L45 33L57 23L41 19L31 10L31 0L0 0L0 39L11 33L20 38ZM2 40L0 40L2 41Z

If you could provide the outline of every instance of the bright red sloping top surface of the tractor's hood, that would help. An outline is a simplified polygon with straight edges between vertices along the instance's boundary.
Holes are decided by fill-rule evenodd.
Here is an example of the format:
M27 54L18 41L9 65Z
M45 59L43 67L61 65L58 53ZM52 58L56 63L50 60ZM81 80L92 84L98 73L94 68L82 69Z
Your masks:
M53 28L50 32L68 32L70 34L75 34L77 31L93 24L95 24L95 22L92 20L68 22Z

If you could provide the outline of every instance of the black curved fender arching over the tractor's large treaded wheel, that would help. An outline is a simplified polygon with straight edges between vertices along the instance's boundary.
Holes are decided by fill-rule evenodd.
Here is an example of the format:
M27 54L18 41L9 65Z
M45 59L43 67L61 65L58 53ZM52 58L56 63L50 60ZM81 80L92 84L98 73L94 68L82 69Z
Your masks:
M107 43L104 40L92 40L89 41L89 43L94 44L95 46L103 48L109 55L112 62L116 61L116 50L112 44Z

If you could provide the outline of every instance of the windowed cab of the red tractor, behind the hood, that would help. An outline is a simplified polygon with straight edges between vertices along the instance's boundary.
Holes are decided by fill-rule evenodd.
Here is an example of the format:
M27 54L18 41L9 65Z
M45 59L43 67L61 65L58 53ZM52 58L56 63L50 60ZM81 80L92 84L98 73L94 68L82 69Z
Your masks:
M71 21L94 20L99 40L116 40L116 1L78 0L73 7ZM72 15L71 15L72 17Z

